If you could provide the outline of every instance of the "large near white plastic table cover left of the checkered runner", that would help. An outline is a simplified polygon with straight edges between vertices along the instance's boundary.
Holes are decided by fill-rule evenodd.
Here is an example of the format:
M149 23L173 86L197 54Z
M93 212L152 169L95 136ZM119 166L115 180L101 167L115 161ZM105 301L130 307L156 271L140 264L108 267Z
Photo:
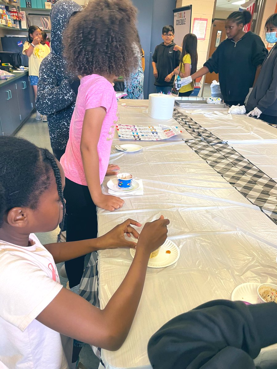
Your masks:
M151 119L145 113L123 107L121 101L120 123L149 124ZM135 104L141 101L127 100L127 105ZM181 139L179 135L173 141L140 141L143 149L132 154L114 148L131 141L117 138L113 142L110 163L143 179L144 195L124 196L124 206L114 212L98 209L98 235L129 217L144 224L163 214L171 222L168 238L177 244L180 258L167 268L147 269L126 341L116 352L101 352L106 369L150 369L148 340L168 320L206 301L230 299L238 284L277 282L275 223ZM108 179L103 193L107 193ZM101 308L122 282L132 260L128 249L99 251ZM263 368L274 361L274 346L256 359Z

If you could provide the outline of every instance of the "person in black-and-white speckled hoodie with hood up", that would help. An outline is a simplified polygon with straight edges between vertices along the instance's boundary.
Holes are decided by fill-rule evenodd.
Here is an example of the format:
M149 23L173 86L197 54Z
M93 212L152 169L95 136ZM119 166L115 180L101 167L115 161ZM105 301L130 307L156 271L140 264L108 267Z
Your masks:
M81 5L72 0L59 0L55 3L50 13L52 51L40 66L35 104L41 114L47 115L51 147L58 160L65 152L80 85L78 77L66 72L66 62L62 56L62 32L69 18L81 10Z

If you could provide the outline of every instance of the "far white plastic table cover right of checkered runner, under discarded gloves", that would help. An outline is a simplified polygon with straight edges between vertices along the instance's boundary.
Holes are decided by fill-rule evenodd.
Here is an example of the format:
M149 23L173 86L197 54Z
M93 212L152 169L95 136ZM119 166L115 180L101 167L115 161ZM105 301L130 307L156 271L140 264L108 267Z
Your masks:
M227 114L228 109L220 109L220 113L226 114L226 117L206 117L204 114L190 114L192 110L187 108L177 107L177 109L230 145L237 142L254 144L264 140L277 142L275 127L247 115Z

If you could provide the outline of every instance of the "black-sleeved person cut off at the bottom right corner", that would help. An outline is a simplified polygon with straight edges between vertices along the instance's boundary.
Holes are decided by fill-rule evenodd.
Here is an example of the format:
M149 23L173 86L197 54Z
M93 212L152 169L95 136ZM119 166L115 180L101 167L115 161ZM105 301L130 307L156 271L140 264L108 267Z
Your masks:
M261 348L276 342L276 303L215 300L163 325L148 356L153 369L254 369Z

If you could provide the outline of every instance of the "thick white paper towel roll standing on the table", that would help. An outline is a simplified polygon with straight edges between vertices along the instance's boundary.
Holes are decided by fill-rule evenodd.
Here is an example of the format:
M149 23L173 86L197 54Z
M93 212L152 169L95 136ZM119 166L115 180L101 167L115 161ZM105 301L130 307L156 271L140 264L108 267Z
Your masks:
M148 115L154 119L170 119L173 115L175 97L161 93L149 95Z

